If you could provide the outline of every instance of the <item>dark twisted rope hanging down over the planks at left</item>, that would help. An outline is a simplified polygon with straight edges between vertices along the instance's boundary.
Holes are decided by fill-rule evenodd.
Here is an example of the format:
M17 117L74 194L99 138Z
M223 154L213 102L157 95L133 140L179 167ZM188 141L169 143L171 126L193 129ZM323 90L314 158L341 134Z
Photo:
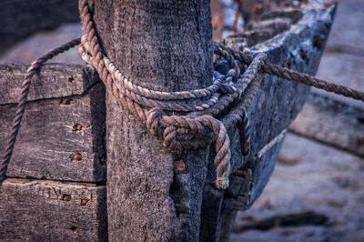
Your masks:
M42 55L39 58L37 58L26 70L25 81L22 84L22 91L21 91L21 95L19 98L19 103L17 105L15 118L13 120L11 134L8 139L7 146L5 148L5 156L4 156L3 161L0 164L0 185L2 184L2 182L5 179L6 169L7 169L7 166L9 165L10 158L13 154L16 136L17 136L17 133L20 128L20 123L22 121L22 117L25 112L25 103L26 103L26 99L27 99L27 96L29 93L29 87L32 83L33 76L35 76L35 74L39 71L40 67L47 60L53 58L54 56L56 56L60 53L65 52L65 51L69 50L70 48L74 47L75 45L79 45L79 44L80 44L80 39L77 38L77 39L71 40L70 42L66 43L65 45L56 47L55 49L50 50L45 55Z

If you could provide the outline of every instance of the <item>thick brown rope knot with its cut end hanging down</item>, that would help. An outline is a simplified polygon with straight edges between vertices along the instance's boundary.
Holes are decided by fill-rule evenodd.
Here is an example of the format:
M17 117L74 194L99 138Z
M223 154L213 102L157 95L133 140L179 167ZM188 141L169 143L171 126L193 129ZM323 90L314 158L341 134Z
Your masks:
M147 113L147 128L153 136L163 138L163 145L177 156L184 150L206 147L215 141L216 186L227 189L231 173L230 139L221 121L209 115L167 116L161 109L152 108Z

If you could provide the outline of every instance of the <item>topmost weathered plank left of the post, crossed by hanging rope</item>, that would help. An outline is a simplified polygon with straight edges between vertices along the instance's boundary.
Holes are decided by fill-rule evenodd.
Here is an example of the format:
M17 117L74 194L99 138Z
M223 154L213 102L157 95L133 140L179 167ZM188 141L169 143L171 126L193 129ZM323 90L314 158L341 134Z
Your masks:
M18 102L27 67L0 66L0 106ZM32 81L28 101L82 95L97 81L97 74L91 66L45 65Z

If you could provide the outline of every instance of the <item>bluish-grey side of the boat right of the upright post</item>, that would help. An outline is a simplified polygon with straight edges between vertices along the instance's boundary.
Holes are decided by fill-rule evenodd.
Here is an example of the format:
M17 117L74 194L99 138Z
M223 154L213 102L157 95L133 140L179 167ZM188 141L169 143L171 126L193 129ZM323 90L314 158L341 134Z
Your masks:
M309 2L310 5L315 3L318 3L318 1ZM324 36L325 39L327 38L334 13L335 6L321 9L312 8L288 31L281 32L276 29L276 33L280 33L280 35L253 45L249 49L253 52L263 51L267 53L270 63L280 66L288 65L292 69L314 75L319 67L319 59L324 45L317 48L314 46L313 40L315 36L319 35ZM250 36L254 37L254 35ZM236 38L236 40L234 38L229 39L229 45L238 48L240 45L238 38L241 38L241 36ZM249 43L249 39L243 38L242 40L241 45L247 47L245 43ZM306 58L298 55L301 49L307 53ZM213 187L204 191L204 199L207 202L202 207L202 217L204 219L202 223L208 222L210 227L216 227L217 231L220 230L220 234L207 232L206 237L202 237L203 241L227 241L236 211L251 207L263 192L273 172L282 142L271 147L265 156L258 160L251 162L251 159L270 140L278 136L298 115L308 97L308 93L309 88L307 86L289 83L275 76L264 76L258 96L248 109L248 116L252 126L251 152L248 157L241 158L238 157L239 150L232 148L233 157L236 157L233 158L234 166L236 168L240 167L244 176L232 176L231 186L224 196L221 196ZM231 140L237 140L237 138L234 137ZM209 172L208 174L213 173ZM207 176L207 182L213 182L213 180L214 176ZM222 205L219 205L221 209L209 209L210 204L208 201L215 201L216 205L218 205L221 203L219 199L223 201ZM211 217L219 217L220 219L213 222L209 220Z

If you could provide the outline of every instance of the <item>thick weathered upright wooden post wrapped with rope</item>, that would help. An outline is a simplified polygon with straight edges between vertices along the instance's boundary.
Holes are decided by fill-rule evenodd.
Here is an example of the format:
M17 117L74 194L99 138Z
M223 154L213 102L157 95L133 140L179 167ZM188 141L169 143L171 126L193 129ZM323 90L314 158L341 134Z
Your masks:
M179 91L212 79L208 0L95 1L106 54L139 86ZM107 215L110 241L197 241L208 148L174 158L146 125L106 96Z

